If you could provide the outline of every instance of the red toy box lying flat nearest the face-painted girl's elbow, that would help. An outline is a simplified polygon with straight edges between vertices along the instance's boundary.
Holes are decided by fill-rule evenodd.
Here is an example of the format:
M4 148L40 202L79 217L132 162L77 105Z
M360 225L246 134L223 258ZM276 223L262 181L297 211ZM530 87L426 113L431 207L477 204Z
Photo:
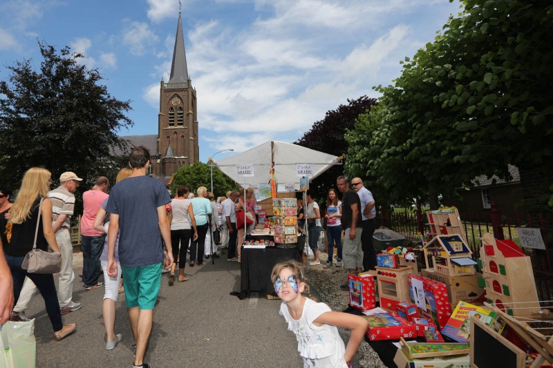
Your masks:
M371 341L415 338L415 326L396 313L377 313L364 317L368 322L367 337Z

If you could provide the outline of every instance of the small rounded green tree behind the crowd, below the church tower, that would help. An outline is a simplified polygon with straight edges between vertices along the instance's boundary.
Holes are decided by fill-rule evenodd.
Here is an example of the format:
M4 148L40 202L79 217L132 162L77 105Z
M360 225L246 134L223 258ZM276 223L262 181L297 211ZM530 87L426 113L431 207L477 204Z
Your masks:
M211 166L203 162L194 162L193 165L185 165L178 169L173 175L171 184L171 194L177 192L177 188L181 185L187 186L190 191L196 194L196 189L200 186L205 186L208 191L211 191ZM234 180L225 175L218 167L213 168L213 190L215 198L227 195L227 191L236 191L240 185Z

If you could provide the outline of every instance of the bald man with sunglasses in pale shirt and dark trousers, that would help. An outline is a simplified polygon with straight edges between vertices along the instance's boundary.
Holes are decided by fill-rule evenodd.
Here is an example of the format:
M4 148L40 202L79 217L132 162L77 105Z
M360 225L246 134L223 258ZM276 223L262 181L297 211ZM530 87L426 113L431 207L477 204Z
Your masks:
M361 244L363 248L363 271L366 272L376 267L376 251L373 246L373 234L375 233L375 199L373 193L363 186L363 180L360 177L354 177L351 181L353 190L359 195L362 209L363 233Z

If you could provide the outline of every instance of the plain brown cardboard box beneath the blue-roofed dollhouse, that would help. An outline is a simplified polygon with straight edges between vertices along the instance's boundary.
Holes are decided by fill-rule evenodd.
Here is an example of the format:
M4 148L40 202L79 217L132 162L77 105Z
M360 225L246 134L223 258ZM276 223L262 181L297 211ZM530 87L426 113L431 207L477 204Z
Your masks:
M421 273L425 278L443 282L446 285L447 293L449 294L449 304L451 304L452 308L455 308L459 302L472 302L480 299L486 293L483 287L478 286L478 278L482 277L482 273L449 276L425 269Z

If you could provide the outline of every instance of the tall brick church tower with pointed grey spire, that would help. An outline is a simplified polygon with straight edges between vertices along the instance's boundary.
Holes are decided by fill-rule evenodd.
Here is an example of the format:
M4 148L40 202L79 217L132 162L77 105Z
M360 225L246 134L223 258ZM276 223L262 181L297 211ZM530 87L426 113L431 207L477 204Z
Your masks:
M178 26L169 81L161 81L160 113L158 115L158 153L153 175L169 178L180 166L199 160L198 106L196 89L188 75L182 18ZM165 181L164 181L165 182Z

